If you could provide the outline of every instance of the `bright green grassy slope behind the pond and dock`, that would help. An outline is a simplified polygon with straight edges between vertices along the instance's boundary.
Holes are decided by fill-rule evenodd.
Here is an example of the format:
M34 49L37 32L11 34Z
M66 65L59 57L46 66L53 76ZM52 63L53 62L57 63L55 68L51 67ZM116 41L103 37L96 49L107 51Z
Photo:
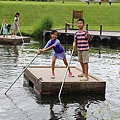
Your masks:
M45 15L52 18L53 29L64 28L66 22L71 23L73 10L83 10L89 30L99 30L102 24L103 30L120 31L120 3L0 1L0 22L12 24L15 13L20 12L20 29L31 34L36 21Z

